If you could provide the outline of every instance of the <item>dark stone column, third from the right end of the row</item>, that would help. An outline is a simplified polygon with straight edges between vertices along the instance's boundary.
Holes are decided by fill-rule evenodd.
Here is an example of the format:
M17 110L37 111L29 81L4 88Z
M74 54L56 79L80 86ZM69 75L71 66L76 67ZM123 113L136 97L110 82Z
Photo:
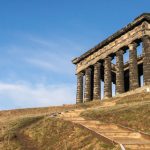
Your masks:
M116 52L116 94L124 92L123 50Z

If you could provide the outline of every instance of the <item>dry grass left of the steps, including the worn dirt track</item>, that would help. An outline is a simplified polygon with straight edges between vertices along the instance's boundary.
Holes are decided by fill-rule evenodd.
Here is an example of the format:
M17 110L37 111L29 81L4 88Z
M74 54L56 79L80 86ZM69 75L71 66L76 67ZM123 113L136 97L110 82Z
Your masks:
M60 119L38 116L19 118L9 124L3 134L3 150L106 150L115 146L95 137L91 132Z

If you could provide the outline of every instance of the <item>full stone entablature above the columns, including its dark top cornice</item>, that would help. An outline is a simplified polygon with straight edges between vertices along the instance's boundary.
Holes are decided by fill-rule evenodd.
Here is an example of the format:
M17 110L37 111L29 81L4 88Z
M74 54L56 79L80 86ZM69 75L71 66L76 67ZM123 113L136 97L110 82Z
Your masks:
M80 71L84 70L88 66L95 64L97 61L99 61L99 59L104 59L107 57L107 55L115 53L121 48L127 47L134 40L141 39L144 35L150 35L150 24L149 24L150 15L147 14L144 16L141 16L141 18L138 18L138 20L135 20L133 23L130 23L128 26L130 26L131 28L134 24L137 24L138 22L140 23L140 25L137 24L135 28L128 29L128 31L121 34L120 37L115 38L115 36L112 35L111 37L115 38L114 40L112 39L113 40L112 42L109 42L110 41L109 39L111 39L111 37L109 37L108 39L105 40L108 41L108 43L106 42L107 44L105 44L104 46L103 44L99 44L102 45L102 46L97 46L100 48L96 48L96 47L93 48L92 50L90 50L91 52L89 52L89 54L87 52L86 55L88 54L89 56L83 54L81 57L75 58L73 60L73 63L77 65L76 73L79 73ZM143 18L145 18L145 20ZM141 20L144 20L144 22L141 22ZM127 27L125 27L125 29L126 28ZM121 29L120 32L124 31L125 29L124 28Z

